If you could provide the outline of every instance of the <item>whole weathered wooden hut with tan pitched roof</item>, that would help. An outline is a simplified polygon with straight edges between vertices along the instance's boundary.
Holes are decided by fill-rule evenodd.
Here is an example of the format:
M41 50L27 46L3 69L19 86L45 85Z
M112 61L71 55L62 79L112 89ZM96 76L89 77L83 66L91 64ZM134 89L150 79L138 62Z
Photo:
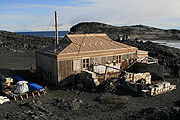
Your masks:
M94 63L112 63L123 69L136 59L137 50L113 41L106 34L67 34L56 47L37 51L36 65L44 80L65 85Z

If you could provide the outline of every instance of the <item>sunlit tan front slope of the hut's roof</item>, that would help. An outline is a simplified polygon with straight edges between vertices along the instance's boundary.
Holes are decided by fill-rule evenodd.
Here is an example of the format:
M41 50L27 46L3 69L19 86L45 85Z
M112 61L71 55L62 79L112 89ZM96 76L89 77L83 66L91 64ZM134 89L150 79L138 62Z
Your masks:
M112 50L126 49L134 47L125 45L110 39L106 34L68 34L66 37L71 41L59 54L84 53L84 52L108 52Z

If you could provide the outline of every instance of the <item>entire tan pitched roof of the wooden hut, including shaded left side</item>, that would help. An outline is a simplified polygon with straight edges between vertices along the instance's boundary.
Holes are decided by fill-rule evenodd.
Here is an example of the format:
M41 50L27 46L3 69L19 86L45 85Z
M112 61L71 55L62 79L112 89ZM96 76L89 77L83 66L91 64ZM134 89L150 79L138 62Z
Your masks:
M67 34L60 41L56 55L59 58L92 57L135 52L137 48L113 41L106 34ZM42 50L54 53L54 47Z

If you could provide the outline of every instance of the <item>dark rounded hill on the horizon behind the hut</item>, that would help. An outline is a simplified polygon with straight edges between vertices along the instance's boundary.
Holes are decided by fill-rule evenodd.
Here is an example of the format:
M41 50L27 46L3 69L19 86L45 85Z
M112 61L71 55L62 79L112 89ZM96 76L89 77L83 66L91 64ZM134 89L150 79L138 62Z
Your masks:
M83 22L71 27L70 31L74 33L106 33L114 40L122 35L128 35L132 39L137 37L145 40L180 40L180 30L164 30L144 25L112 26L98 22Z

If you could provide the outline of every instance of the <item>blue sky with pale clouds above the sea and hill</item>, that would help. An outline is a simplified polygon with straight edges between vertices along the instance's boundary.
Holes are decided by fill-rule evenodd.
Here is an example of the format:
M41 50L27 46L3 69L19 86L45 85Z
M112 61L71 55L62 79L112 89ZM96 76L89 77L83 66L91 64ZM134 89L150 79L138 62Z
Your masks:
M1 0L0 30L54 31L54 11L61 31L80 22L180 29L180 0Z

